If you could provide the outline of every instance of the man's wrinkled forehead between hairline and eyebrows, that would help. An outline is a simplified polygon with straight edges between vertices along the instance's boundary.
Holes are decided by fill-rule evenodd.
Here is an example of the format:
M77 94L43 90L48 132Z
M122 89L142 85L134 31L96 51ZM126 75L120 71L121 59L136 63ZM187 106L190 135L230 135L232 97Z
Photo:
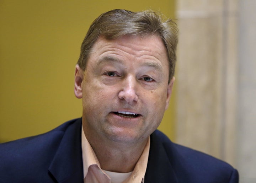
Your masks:
M92 47L89 60L96 61L97 58L109 55L153 59L168 64L166 47L157 35L144 37L127 35L117 39L100 36Z

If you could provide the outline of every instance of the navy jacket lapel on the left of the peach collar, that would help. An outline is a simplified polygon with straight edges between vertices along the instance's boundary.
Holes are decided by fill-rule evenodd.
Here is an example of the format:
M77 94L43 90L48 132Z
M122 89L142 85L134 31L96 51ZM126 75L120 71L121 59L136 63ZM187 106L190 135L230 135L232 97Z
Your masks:
M65 130L49 171L58 182L83 182L81 118Z

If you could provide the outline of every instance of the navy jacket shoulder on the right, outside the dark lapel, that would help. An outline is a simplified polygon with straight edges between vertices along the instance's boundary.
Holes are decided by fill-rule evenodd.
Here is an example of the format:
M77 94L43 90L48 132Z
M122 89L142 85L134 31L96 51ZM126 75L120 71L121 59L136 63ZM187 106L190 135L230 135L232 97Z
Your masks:
M218 158L175 144L158 130L150 140L166 153L180 182L238 182L238 171Z

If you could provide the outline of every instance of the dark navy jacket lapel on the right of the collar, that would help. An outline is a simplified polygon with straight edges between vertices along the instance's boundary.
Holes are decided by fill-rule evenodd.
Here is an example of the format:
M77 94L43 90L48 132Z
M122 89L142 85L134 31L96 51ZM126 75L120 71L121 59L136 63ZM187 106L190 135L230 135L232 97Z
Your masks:
M166 154L159 137L153 133L150 136L149 160L145 174L145 183L178 182L169 156Z

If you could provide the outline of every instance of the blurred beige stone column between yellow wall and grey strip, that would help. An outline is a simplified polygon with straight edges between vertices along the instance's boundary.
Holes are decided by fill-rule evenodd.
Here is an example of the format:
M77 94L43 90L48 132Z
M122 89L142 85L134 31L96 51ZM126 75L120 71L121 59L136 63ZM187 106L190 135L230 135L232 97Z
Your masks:
M178 0L177 142L235 165L237 0Z

